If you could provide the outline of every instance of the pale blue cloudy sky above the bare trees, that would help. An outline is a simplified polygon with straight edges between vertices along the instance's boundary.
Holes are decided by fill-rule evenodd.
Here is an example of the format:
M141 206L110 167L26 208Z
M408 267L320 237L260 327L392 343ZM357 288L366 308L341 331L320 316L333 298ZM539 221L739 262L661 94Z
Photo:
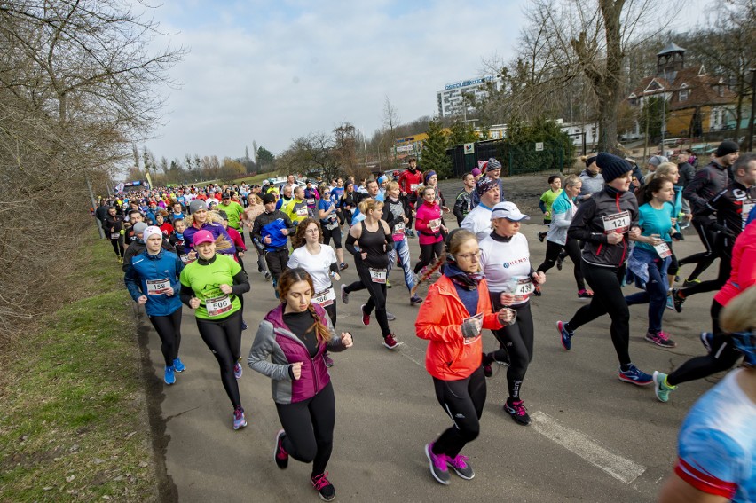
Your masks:
M694 0L698 7L708 0ZM370 138L386 97L402 122L437 111L446 83L513 55L525 1L165 0L154 12L171 44L164 123L146 146L241 157L252 142L280 153L292 139L351 122ZM702 10L687 4L685 22Z

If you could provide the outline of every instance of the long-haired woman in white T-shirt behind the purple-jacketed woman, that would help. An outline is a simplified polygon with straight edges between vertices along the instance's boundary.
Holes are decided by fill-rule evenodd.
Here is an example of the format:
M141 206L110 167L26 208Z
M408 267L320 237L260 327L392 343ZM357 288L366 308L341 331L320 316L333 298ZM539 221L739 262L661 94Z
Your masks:
M330 201L328 202L329 204ZM323 243L323 234L320 225L314 218L305 218L296 226L294 236L291 238L291 246L294 248L288 258L288 268L301 268L310 274L312 285L315 290L312 293L312 302L317 303L326 310L331 325L336 326L336 293L331 279L339 281L339 264L336 262L334 248ZM334 366L334 361L324 353L326 366Z

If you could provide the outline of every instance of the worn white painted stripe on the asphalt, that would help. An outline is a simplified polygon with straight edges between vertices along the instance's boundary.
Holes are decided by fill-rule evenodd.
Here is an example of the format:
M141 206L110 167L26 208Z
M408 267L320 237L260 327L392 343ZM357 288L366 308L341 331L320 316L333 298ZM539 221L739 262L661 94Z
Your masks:
M564 427L559 420L547 413L536 411L531 414L531 419L533 428L541 435L579 455L596 468L601 468L622 483L631 483L646 471L646 468L642 465L610 452L596 444L587 435L575 429Z

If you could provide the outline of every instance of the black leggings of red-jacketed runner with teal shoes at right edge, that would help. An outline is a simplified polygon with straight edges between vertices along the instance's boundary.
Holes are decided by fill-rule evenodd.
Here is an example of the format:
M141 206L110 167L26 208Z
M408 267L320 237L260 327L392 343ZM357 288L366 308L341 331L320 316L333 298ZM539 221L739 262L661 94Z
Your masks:
M722 334L720 327L721 303L712 302L712 352L703 356L690 358L687 362L677 367L673 373L666 376L666 381L672 386L681 382L704 379L713 373L729 370L736 364L743 354L735 349L729 334Z

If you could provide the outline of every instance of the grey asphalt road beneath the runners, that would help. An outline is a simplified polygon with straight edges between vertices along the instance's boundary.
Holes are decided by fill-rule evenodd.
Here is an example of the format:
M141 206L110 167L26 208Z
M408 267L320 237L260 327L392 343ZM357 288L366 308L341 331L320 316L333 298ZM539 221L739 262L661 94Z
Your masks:
M450 220L453 218L450 218ZM535 218L533 219L535 221ZM452 224L454 226L454 224ZM538 224L524 225L537 266L545 255ZM413 261L417 240L411 240ZM701 248L694 235L675 244L678 256ZM348 255L348 254L346 254ZM272 402L270 381L246 365L256 325L277 305L270 283L257 274L252 255L245 260L252 290L245 295L244 318L249 329L242 340L245 360L240 395L248 427L232 429L232 407L218 376L215 358L201 341L193 313L184 308L181 357L186 372L177 383L163 386L161 417L167 436L166 468L182 502L318 500L310 484L310 466L291 460L279 470L272 460L280 423ZM357 275L351 258L343 282ZM582 327L572 350L562 349L555 330L585 301L576 295L571 272L547 274L543 296L532 299L535 354L525 377L522 397L533 418L517 425L502 411L506 367L494 365L481 435L464 454L476 476L465 481L452 475L448 486L429 475L423 446L450 426L424 368L426 342L417 338L413 322L418 306L408 302L400 275L392 273L389 310L397 316L391 327L405 342L390 351L381 344L377 322L362 326L359 305L366 291L339 301L337 330L354 335L354 347L335 354L331 369L336 395L336 427L329 479L341 501L474 501L512 499L527 502L654 501L675 460L678 428L690 405L717 379L685 384L667 404L657 401L652 385L639 388L619 381L618 362L609 335L610 319ZM689 272L689 268L686 269ZM705 278L713 276L707 271ZM422 290L424 294L427 290ZM634 287L626 287L628 293ZM669 372L686 359L702 354L698 341L710 329L712 295L691 297L685 310L665 313L665 329L678 342L673 350L643 340L646 306L631 307L630 352L646 372ZM146 318L143 323L149 326ZM154 378L162 379L157 334L149 327ZM484 347L493 350L492 334ZM721 377L721 376L717 376Z

